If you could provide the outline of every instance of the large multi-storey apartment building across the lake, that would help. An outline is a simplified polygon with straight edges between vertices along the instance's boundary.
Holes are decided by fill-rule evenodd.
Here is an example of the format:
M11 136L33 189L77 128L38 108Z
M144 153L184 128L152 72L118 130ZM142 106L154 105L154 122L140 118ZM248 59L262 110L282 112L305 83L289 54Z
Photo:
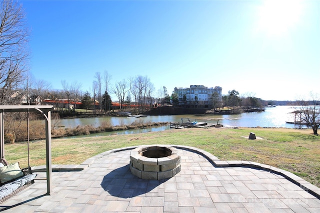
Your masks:
M204 85L190 85L190 87L174 87L174 92L178 94L180 105L206 106L210 104L211 95L216 92L219 100L222 99L222 88L220 86L207 87ZM185 95L185 99L183 96Z

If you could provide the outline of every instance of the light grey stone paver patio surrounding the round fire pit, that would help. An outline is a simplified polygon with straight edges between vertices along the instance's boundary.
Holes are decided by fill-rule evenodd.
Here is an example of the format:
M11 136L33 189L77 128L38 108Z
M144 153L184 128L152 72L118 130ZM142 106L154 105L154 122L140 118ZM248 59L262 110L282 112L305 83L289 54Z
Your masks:
M193 147L175 147L181 171L169 179L132 175L130 149L116 149L88 159L83 170L52 172L50 195L45 195L46 180L39 179L45 172L37 172L35 183L1 203L0 210L320 212L320 189L294 174L270 166L268 171L267 165L253 162L219 161ZM244 166L248 164L253 166Z

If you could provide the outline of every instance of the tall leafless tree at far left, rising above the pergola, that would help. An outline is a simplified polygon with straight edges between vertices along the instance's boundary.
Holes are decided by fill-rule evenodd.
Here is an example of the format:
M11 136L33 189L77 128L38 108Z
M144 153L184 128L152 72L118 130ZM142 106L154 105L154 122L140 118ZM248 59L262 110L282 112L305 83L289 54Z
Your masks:
M0 1L0 104L8 102L27 70L29 30L24 16L17 1Z

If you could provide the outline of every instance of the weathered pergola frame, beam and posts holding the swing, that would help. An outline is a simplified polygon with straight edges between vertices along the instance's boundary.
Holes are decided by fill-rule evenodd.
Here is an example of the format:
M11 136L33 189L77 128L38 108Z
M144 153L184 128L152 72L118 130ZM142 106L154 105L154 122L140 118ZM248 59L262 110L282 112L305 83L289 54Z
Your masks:
M51 111L52 105L0 105L0 157L4 158L4 112L40 112L45 118L46 188L51 193Z

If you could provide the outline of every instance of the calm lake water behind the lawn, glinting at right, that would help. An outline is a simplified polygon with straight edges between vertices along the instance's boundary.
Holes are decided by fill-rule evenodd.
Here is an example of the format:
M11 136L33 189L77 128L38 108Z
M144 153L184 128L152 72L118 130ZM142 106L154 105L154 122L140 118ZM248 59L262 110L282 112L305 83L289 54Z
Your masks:
M147 116L140 118L130 117L90 117L90 118L72 118L61 119L59 125L64 127L76 127L77 125L93 125L99 126L103 122L112 125L130 124L132 122L181 122L181 118L189 118L191 121L205 121L207 123L219 123L229 126L242 126L242 127L286 127L294 128L294 124L286 123L285 121L293 121L293 114L289 113L295 109L292 106L276 106L266 107L262 112L248 112L242 114L232 115L158 115ZM185 119L186 120L186 119ZM184 121L185 121L184 120ZM132 129L113 132L101 132L93 135L110 135L110 134L129 134L129 133L142 133L148 131L162 131L170 129L169 125L145 128L145 129ZM84 135L86 136L86 135ZM83 137L83 135L81 135Z

